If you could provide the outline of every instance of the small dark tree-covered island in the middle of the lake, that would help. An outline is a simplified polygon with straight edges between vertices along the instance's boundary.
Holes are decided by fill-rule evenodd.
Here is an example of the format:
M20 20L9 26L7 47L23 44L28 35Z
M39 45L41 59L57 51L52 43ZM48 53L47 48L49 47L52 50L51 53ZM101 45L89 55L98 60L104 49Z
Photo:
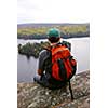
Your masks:
M63 43L68 45L70 49L69 42L63 41ZM48 46L50 46L49 42L26 43L25 45L18 44L18 53L24 54L27 57L33 56L33 57L38 58L39 53Z

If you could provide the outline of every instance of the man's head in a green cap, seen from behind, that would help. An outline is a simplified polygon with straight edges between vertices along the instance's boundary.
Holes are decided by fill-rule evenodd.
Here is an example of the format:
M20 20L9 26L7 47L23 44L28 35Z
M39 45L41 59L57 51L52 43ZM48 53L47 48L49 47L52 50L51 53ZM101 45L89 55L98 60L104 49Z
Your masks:
M48 31L48 39L51 43L56 43L60 39L60 31L56 28L51 28Z

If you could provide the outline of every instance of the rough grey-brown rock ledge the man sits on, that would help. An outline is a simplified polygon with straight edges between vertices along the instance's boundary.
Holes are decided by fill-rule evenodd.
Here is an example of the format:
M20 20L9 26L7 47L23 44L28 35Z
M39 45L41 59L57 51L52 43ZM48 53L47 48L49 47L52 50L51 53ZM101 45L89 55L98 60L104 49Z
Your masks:
M36 82L18 83L17 108L90 108L90 71L71 79L72 102L68 87L49 90Z

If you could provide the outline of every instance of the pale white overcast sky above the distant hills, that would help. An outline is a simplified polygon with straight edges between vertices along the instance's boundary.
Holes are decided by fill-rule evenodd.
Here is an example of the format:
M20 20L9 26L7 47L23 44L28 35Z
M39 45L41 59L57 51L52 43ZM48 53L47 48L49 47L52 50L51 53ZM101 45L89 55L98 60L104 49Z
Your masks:
M89 23L87 0L17 0L17 24Z

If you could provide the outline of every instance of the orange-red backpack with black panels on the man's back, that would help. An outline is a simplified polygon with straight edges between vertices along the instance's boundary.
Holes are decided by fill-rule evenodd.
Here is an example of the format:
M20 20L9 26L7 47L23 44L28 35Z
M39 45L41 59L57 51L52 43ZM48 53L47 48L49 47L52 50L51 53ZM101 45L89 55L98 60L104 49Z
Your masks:
M64 44L52 46L52 77L58 81L69 81L76 73L77 62Z

